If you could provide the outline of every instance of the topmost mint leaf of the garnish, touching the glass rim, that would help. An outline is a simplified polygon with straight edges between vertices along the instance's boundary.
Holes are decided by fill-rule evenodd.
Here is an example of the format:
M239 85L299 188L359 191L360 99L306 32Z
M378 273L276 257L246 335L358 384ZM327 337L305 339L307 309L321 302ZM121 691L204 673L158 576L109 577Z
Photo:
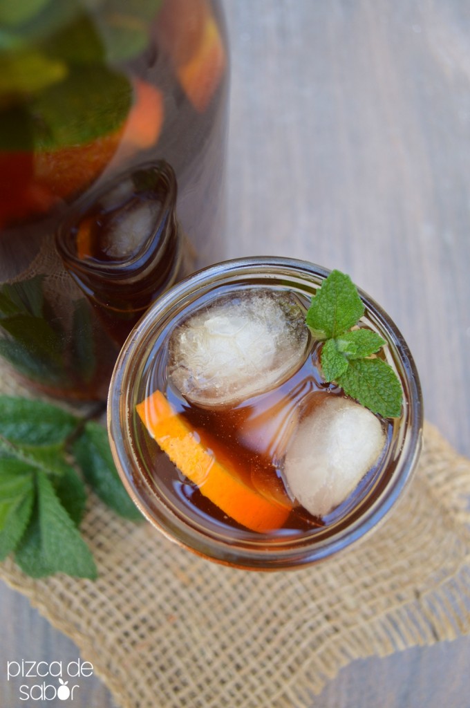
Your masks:
M349 275L332 270L306 314L306 324L323 341L350 329L364 314L365 307Z

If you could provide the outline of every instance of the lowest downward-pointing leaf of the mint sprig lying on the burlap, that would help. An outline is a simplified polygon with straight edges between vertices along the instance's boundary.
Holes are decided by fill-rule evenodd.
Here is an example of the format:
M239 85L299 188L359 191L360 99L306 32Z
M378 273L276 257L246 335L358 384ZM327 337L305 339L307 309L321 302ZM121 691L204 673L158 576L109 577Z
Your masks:
M18 565L35 578L51 573L96 578L91 551L60 503L47 475L38 472L36 483L37 502L32 523L16 551Z

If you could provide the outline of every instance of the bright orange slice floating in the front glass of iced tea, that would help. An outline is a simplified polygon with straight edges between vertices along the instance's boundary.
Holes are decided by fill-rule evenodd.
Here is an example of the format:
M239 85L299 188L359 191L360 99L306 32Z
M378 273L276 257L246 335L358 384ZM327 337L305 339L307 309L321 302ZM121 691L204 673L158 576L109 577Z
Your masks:
M191 428L161 391L138 404L137 413L180 472L236 522L258 532L277 529L285 523L290 508L256 491L219 444L210 440L207 433Z

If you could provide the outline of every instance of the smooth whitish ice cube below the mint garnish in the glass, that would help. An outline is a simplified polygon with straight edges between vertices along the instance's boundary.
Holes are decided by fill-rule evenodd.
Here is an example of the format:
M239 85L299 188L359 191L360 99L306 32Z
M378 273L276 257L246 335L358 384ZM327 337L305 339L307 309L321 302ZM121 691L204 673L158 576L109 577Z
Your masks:
M318 393L313 398L287 447L284 474L301 506L325 516L377 462L385 433L379 419L355 401Z

